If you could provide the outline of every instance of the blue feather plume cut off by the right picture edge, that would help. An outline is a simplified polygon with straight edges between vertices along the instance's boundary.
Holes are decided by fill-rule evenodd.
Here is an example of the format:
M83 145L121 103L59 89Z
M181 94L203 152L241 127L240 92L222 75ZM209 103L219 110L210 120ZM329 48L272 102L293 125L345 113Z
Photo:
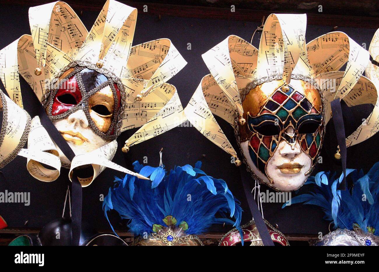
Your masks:
M337 190L343 174L335 178L335 173L321 171L309 177L305 184L313 185L313 191L293 197L291 204L317 205L335 228L358 227L379 236L379 162L366 175L362 170L346 169L346 176L352 180L352 187L343 191Z

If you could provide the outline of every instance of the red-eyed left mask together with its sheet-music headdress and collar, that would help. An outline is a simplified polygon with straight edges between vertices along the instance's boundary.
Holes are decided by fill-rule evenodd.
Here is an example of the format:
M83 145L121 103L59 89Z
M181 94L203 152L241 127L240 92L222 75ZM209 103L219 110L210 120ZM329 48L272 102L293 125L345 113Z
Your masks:
M185 120L176 89L166 81L186 61L169 39L132 46L136 18L137 9L108 0L88 32L66 3L36 6L29 9L31 35L21 36L0 51L0 72L5 74L2 81L9 96L23 106L20 74L77 155L75 162L70 162L39 120L34 120L46 137L41 146L40 142L31 141L37 134L29 135L28 150L40 151L32 159L39 173L31 174L37 179L55 180L61 163L71 166L71 170L83 163L97 165L94 168L100 165L94 170L94 177L105 166L120 169L111 166L109 160L117 149L115 139L122 131L142 126L138 136L131 137L133 145ZM28 163L31 153L23 152ZM53 156L46 157L49 155ZM56 155L60 160L54 158ZM42 169L41 156L45 156L44 163L55 161L49 164L55 170ZM101 159L95 162L94 157ZM89 185L94 177L81 182Z

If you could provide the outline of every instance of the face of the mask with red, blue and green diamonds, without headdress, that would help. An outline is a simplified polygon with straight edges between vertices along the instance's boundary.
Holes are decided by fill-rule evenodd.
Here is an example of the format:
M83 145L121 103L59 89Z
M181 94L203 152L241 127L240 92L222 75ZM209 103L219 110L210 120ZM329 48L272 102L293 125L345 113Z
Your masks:
M246 161L269 186L296 190L312 172L322 145L324 113L318 86L310 79L291 79L289 84L252 82L248 88L243 100L247 126L239 129Z

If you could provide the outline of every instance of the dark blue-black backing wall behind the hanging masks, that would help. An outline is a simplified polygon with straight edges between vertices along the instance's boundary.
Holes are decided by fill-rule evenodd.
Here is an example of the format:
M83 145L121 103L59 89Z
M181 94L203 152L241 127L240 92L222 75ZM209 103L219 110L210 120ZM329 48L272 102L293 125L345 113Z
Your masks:
M80 16L85 26L90 29L99 11L75 10ZM230 16L230 14L228 14ZM196 19L153 16L147 13L139 13L133 44L140 44L158 38L169 38L175 47L186 59L188 64L169 83L177 87L180 99L185 106L200 79L209 73L202 61L201 54L218 44L230 34L235 34L245 40L250 41L251 34L260 22L244 22L238 20L219 19ZM307 26L307 41L310 41L321 34L333 30L338 26L338 22L332 26ZM377 25L376 27L379 27ZM338 27L337 30L347 33L358 44L365 43L367 48L375 32L374 28L348 28ZM0 48L13 42L22 34L30 34L28 24L27 6L3 6L0 16ZM253 40L253 45L258 47L260 33L257 33ZM187 50L187 43L191 43L191 50ZM23 101L26 107L33 108L37 103L31 90L23 90ZM349 132L361 123L362 118L367 117L370 106L360 106L352 109L352 112L345 113L345 127ZM33 110L31 115L34 116ZM233 138L233 132L229 124L218 118L219 124L231 140L232 145L237 148ZM193 127L177 127L162 134L152 140L145 141L132 147L128 154L121 152L124 141L132 135L133 131L127 131L118 138L119 151L114 157L114 162L132 169L131 163L135 160L142 162L147 156L149 165L159 164L159 150L163 147L163 163L167 169L174 165L184 165L189 163L194 165L197 160L202 160L203 170L210 176L226 180L233 194L240 199L245 210L243 221L251 219L243 193L240 179L240 168L230 163L229 155L213 145L205 137L199 134ZM346 133L348 135L348 133ZM371 168L379 160L377 152L379 135L375 135L369 140L352 146L348 149L348 167L363 168L365 171ZM323 163L318 165L314 173L320 170L340 171L340 166L335 163L333 155L335 147L335 133L332 121L327 126L327 135L324 148L321 152ZM205 156L204 156L205 155ZM31 204L5 204L0 203L0 215L8 222L9 227L42 227L52 219L58 218L62 214L64 196L66 194L67 170L62 168L61 176L54 182L45 183L33 179L26 169L26 159L17 157L12 163L2 169L5 179L0 177L0 192L5 190L11 192L30 192ZM109 228L108 222L103 216L102 202L99 201L100 194L106 195L108 188L113 183L114 176L123 176L123 173L106 169L89 186L83 189L83 221L88 221L99 229ZM262 186L262 190L269 190ZM301 191L307 190L302 187ZM265 218L272 224L277 224L283 233L317 234L319 231L327 232L328 224L324 221L323 213L316 207L301 204L292 205L281 209L282 203L263 204ZM119 218L116 214L111 215L113 225L126 230L124 226L118 224ZM25 224L27 222L27 224ZM226 232L228 227L214 227L212 230Z

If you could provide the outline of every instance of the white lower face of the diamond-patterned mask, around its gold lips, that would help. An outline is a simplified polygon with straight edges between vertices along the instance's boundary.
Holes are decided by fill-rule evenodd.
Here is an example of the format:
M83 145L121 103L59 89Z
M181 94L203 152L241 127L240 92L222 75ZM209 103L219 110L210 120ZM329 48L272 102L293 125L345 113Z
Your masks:
M279 143L279 146L275 150L273 156L268 160L266 165L267 175L273 179L273 183L269 182L268 177L266 177L261 171L255 167L249 155L248 148L249 141L241 143L242 151L245 154L245 158L250 168L254 173L263 181L270 184L272 187L275 187L280 191L293 191L299 189L304 182L307 180L310 174L305 175L307 171L312 166L312 160L301 148L298 142L295 145L295 153L290 156L285 155L285 151L288 149L288 144L283 140ZM283 163L299 163L303 165L299 173L296 174L283 174L277 166L282 165Z

